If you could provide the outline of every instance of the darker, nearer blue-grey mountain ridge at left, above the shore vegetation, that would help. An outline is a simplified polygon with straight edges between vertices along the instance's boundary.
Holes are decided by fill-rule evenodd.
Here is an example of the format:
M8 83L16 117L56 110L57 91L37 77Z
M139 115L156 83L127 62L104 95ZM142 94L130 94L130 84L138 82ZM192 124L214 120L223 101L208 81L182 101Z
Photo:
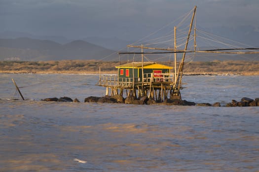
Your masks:
M112 50L82 40L59 44L30 38L0 39L0 60L102 59L113 53Z

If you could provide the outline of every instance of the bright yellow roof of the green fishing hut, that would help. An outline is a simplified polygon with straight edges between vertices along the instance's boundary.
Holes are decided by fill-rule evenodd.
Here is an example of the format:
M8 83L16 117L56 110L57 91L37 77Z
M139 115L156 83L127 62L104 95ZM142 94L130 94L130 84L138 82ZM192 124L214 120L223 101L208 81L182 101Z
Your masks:
M116 68L142 68L142 62L130 62L126 64L121 64L119 66L115 66ZM143 62L144 69L173 69L171 66L167 66L164 64L159 64L156 62Z

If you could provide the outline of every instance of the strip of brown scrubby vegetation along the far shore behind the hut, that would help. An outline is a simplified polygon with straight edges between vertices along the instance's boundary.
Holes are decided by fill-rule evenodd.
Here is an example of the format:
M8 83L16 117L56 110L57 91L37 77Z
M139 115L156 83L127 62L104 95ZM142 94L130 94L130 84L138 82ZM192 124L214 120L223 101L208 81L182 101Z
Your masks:
M120 62L121 64L126 62ZM168 62L160 62L168 65ZM117 61L0 61L0 73L117 73ZM240 74L259 75L259 61L193 61L186 62L184 73L189 75Z

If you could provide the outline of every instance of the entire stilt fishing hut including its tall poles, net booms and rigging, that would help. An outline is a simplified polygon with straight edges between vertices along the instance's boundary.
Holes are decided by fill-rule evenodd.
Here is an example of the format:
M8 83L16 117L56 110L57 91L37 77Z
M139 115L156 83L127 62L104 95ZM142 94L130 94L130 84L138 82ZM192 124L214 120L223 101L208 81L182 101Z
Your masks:
M192 15L191 15L192 14ZM188 29L186 40L180 38L183 41L177 46L176 30L174 27L174 47L167 46L166 48L150 47L149 45L137 44L137 45L127 45L131 48L139 48L141 52L119 52L119 55L141 55L142 61L135 62L133 57L133 62L126 64L119 64L116 66L118 73L116 76L105 76L100 74L98 86L106 87L106 95L123 95L126 91L127 96L134 96L135 98L141 98L148 96L149 99L154 99L158 102L163 102L165 99L170 98L171 100L182 100L180 89L182 89L182 77L185 64L186 53L210 53L210 54L258 54L259 52L253 52L252 50L259 50L259 48L227 48L227 49L210 49L210 50L197 50L196 49L196 25L194 25L194 34L191 35L191 30L194 22L194 17L196 14L196 6L190 11L188 16L190 16L190 24L185 27ZM186 19L186 18L185 18ZM184 20L185 20L184 19ZM181 29L180 29L181 30ZM172 32L170 32L172 33ZM169 34L172 36L172 34ZM202 38L202 37L201 37ZM193 39L193 49L187 50L189 40ZM207 40L207 39L206 39ZM171 41L171 39L169 40ZM159 41L158 41L159 42ZM161 41L160 43L165 43L168 41ZM214 40L215 42L215 40ZM182 46L182 48L181 48ZM144 52L144 49L149 51ZM152 50L153 52L150 52ZM237 50L238 52L234 52ZM241 52L242 51L242 52ZM244 51L244 52L243 52ZM182 57L178 59L177 54L182 54ZM156 62L144 61L144 54L174 54L174 68L159 64ZM119 57L120 59L120 57ZM174 70L172 70L174 69ZM169 97L168 97L169 96Z

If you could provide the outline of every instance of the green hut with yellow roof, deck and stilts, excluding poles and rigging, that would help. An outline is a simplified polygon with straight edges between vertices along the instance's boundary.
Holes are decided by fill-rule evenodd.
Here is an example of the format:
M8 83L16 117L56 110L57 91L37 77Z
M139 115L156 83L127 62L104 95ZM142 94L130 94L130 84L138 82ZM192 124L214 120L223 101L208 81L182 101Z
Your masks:
M106 95L132 95L136 98L148 96L163 101L172 93L174 85L173 67L156 62L131 62L115 66L117 76L101 75L98 86L106 87Z

